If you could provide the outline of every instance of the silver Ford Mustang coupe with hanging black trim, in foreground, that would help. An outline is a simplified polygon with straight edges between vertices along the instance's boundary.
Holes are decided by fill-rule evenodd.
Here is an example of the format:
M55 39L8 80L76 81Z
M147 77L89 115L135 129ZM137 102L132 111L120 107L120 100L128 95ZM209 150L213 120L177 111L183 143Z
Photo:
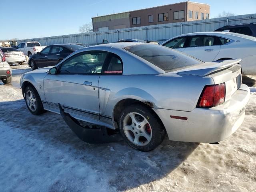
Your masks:
M30 112L67 114L119 129L130 146L174 141L219 142L242 124L250 90L241 60L201 62L146 43L113 43L78 50L52 68L24 74Z

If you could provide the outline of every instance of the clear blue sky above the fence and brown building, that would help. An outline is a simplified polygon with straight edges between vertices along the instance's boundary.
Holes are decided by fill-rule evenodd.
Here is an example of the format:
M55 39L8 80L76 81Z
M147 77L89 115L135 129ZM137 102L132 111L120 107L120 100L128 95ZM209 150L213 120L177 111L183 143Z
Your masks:
M0 0L0 40L78 33L91 17L161 6L184 0ZM222 11L256 13L256 0L193 0L210 5L210 18Z

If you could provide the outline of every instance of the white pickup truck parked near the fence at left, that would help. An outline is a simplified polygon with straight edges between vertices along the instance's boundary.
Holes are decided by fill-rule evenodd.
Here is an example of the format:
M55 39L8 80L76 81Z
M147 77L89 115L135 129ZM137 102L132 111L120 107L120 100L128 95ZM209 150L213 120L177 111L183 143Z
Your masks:
M42 51L46 46L41 46L37 41L20 42L17 49L22 51L28 57Z

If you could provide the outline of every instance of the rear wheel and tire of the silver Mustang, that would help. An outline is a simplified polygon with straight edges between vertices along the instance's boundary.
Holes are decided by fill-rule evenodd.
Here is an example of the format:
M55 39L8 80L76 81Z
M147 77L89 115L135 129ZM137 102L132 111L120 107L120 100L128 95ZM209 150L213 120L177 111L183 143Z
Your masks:
M162 143L165 129L150 108L141 104L126 107L119 117L120 133L132 148L147 152Z

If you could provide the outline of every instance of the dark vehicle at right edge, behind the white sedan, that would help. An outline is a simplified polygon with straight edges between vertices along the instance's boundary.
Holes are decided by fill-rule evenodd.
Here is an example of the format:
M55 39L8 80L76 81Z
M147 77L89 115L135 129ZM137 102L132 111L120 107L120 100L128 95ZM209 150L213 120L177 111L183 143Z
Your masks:
M256 24L226 25L216 29L215 31L240 33L256 37Z

